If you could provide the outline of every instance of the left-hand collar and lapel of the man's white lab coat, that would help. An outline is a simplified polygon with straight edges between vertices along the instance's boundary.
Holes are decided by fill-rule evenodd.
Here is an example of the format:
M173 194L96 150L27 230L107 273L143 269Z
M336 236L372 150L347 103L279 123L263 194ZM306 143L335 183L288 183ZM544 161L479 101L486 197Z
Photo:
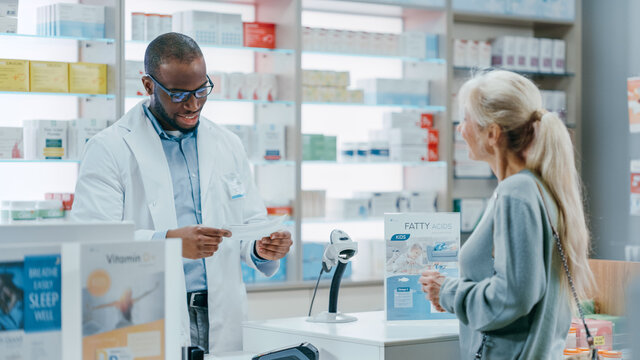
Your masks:
M143 106L148 104L149 100L138 103L124 115L118 126L129 130L124 135L124 141L140 169L154 229L164 231L175 229L178 223L169 164L164 156L160 137L144 113Z

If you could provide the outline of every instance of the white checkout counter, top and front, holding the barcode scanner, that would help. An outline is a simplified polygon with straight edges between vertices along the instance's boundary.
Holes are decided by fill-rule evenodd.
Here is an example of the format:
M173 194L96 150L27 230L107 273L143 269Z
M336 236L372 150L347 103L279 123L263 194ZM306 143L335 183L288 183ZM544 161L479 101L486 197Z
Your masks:
M350 314L343 324L311 323L306 317L251 321L243 325L244 352L209 360L251 360L269 350L313 344L322 360L457 359L458 320L387 322L383 311Z

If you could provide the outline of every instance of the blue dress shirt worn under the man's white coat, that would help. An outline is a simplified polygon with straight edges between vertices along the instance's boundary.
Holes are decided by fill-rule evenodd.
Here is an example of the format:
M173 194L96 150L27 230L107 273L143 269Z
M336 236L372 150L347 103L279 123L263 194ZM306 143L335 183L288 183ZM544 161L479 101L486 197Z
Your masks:
M149 108L143 106L143 109L158 136L160 136L162 148L169 164L178 228L202 224L198 145L196 141L198 129L186 134L179 131L167 133L162 129ZM153 235L153 239L164 239L166 236L167 230L158 231ZM269 260L259 259L254 252L251 253L251 260L256 265L269 262ZM182 263L187 292L207 290L207 273L204 259L182 258Z

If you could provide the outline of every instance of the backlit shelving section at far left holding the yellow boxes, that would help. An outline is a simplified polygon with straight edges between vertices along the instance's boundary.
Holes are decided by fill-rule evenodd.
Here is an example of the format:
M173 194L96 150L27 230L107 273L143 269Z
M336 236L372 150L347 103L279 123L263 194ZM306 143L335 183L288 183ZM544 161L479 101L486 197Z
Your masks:
M107 64L107 94L0 92L0 126L22 126L23 120L116 119L122 114L120 93L121 3L82 1L105 6L105 37L41 36L36 31L39 6L54 1L20 1L17 34L0 34L0 58ZM0 162L0 199L44 199L46 192L73 192L79 162L7 160Z

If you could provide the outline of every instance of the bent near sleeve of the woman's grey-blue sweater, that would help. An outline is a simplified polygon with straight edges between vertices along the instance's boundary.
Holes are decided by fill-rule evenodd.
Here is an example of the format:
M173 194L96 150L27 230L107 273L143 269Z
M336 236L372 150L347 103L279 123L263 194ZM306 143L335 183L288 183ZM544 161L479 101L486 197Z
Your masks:
M543 224L540 208L499 196L494 212L493 276L475 282L447 279L440 304L478 331L503 328L528 314L544 295Z

